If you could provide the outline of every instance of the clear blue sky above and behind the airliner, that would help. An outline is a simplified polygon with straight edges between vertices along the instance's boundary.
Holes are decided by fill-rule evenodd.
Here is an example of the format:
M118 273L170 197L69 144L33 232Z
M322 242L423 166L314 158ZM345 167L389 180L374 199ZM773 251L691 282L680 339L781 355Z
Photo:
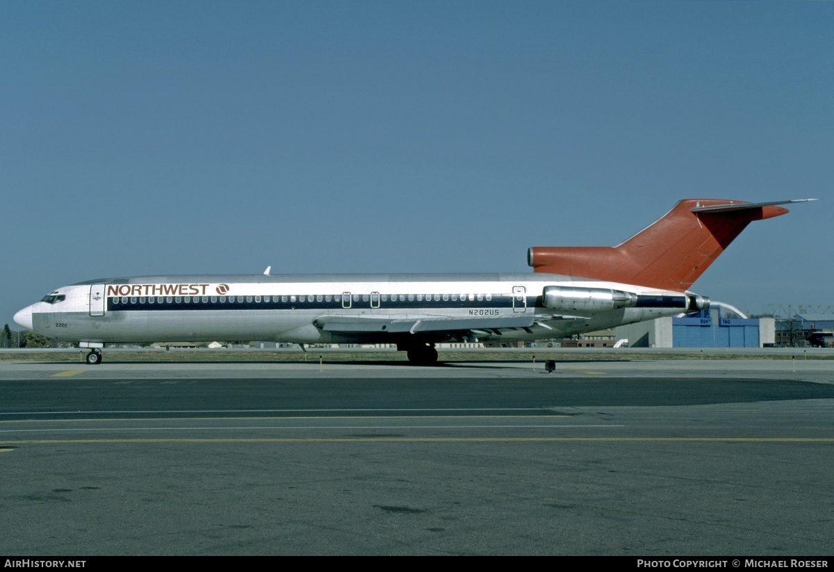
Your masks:
M834 304L831 30L814 2L0 3L0 323L117 275L527 272L680 198L820 198L694 289Z

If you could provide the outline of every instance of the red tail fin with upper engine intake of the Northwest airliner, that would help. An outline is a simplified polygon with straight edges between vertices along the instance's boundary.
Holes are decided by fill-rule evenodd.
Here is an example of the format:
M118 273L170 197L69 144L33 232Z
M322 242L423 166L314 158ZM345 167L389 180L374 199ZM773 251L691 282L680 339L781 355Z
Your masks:
M535 272L683 291L747 224L785 214L775 205L794 202L687 198L619 246L539 246L530 248L527 262Z

